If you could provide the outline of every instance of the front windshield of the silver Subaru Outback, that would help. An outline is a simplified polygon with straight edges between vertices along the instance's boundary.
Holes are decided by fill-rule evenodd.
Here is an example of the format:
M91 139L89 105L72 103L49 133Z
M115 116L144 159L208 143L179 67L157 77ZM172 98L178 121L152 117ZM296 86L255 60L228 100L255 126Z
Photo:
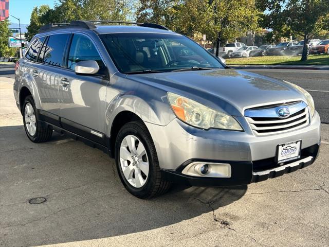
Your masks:
M121 73L224 68L203 47L179 34L109 33L100 38Z

